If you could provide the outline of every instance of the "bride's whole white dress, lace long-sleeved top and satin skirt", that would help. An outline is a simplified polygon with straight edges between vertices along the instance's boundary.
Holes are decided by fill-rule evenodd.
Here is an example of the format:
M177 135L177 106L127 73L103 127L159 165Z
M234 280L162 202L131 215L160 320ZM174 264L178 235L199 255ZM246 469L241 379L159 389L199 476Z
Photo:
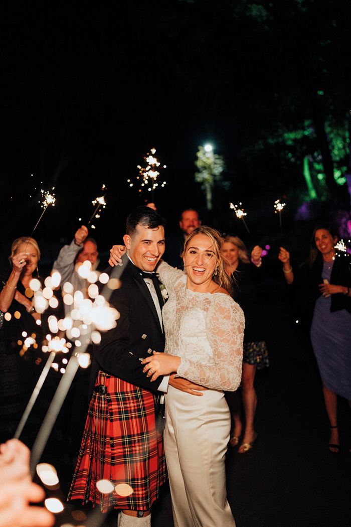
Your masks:
M186 289L186 275L162 262L169 299L162 310L165 353L182 358L177 375L210 388L166 394L164 443L175 527L233 527L226 499L225 453L230 413L223 391L235 391L243 362L244 314L224 293Z

